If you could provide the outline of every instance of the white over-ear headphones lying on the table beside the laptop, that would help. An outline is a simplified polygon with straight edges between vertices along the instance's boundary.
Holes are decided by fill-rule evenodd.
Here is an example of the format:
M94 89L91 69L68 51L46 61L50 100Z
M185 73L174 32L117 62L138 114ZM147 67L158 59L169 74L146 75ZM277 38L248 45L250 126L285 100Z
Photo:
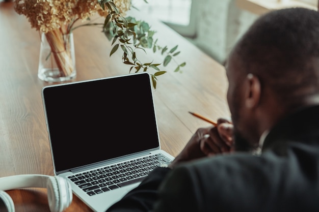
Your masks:
M72 202L72 189L69 182L59 176L21 174L0 178L0 211L14 212L14 204L4 191L22 188L46 188L51 212L62 212ZM3 208L4 207L4 208Z

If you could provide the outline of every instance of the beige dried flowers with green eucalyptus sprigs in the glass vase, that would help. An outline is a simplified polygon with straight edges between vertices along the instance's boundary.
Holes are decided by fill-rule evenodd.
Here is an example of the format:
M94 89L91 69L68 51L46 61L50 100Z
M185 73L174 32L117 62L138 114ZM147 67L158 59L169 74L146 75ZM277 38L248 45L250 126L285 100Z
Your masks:
M145 0L144 0L145 1ZM145 1L146 2L146 1ZM112 40L113 49L110 56L119 49L123 51L123 63L130 65L130 72L140 70L147 71L148 68L156 72L151 74L153 86L156 87L157 76L165 71L160 71L160 64L142 63L135 53L135 49L153 48L153 52L161 50L162 55L166 53L164 66L178 55L177 46L168 49L163 48L153 41L154 31L144 21L136 21L134 18L125 18L126 12L131 7L131 0L15 0L15 10L18 14L25 15L31 27L45 34L50 45L51 53L61 72L61 76L70 75L75 67L71 63L70 51L67 49L68 39L78 20L87 20L95 14L105 17L104 23L88 23L83 25L101 25L104 34ZM132 42L133 41L133 42ZM133 43L133 44L132 44ZM144 50L144 49L143 49ZM180 71L182 63L175 69Z

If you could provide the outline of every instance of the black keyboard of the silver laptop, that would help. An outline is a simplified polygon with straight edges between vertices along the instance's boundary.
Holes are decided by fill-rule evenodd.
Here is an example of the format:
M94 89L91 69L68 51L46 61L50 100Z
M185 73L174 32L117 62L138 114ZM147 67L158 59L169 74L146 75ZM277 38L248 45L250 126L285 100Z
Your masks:
M171 162L162 154L126 161L68 176L88 195L93 196L142 181L153 169Z

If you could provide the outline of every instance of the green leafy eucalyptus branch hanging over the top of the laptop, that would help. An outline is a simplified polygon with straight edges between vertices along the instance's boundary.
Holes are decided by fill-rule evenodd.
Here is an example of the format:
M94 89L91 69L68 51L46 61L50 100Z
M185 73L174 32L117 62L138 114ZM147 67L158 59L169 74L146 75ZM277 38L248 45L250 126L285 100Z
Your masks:
M156 44L157 40L153 42L152 36L155 32L151 31L149 25L144 21L136 21L132 17L123 17L115 6L113 0L99 0L99 4L103 10L107 10L109 13L104 20L103 32L110 41L112 40L113 48L110 52L110 56L115 53L119 47L121 47L123 51L123 63L131 66L129 72L133 69L136 73L139 71L146 72L149 68L154 69L156 72L150 75L153 87L156 88L157 76L166 73L166 71L161 71L158 68L161 64L155 64L153 62L143 63L136 55L137 49L141 49L145 53L146 51L144 48L152 48L152 46L154 46L153 52L155 52L156 49L162 49L161 46ZM163 62L164 66L167 66L171 59L179 54L179 52L175 52L176 49L177 46L168 52L167 47L162 49L162 55L166 53L166 57ZM174 58L173 60L177 64ZM178 65L175 72L180 71L180 67L183 66L185 66L185 63Z

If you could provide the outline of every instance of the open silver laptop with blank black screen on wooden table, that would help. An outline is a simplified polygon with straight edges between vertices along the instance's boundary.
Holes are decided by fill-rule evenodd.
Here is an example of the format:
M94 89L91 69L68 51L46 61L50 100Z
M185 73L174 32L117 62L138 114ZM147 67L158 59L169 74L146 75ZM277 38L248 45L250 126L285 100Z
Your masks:
M173 156L161 150L147 72L45 86L54 173L96 212Z

